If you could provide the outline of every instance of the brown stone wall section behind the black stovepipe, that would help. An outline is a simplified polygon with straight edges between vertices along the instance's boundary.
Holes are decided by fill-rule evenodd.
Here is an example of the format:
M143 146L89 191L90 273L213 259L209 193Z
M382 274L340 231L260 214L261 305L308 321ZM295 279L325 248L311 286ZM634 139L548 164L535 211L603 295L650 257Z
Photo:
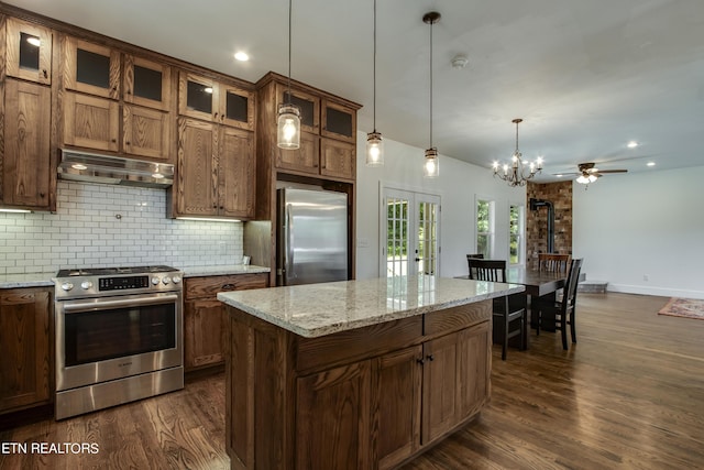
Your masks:
M528 183L526 187L526 252L528 267L537 267L538 253L548 250L548 208L530 210L530 198L549 200L554 207L556 253L572 254L572 181Z

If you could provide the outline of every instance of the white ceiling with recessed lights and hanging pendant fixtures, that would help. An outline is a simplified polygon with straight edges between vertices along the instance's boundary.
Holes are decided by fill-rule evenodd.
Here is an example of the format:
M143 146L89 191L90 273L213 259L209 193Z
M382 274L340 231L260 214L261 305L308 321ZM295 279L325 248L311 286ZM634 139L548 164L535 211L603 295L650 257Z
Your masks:
M286 0L10 0L249 81L288 74ZM373 128L373 0L294 0L292 77L364 107ZM580 162L629 172L704 164L704 1L378 0L376 128L487 168L515 147L541 181ZM233 59L246 51L251 61ZM454 69L464 54L469 65ZM627 142L639 142L627 149ZM628 175L608 175L624 178Z

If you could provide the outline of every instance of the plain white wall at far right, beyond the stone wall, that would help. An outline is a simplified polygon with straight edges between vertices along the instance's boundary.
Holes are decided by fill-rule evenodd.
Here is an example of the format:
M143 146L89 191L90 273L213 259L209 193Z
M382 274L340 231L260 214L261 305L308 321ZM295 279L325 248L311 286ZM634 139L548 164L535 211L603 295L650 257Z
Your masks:
M704 298L704 166L610 175L573 188L573 251L587 280Z

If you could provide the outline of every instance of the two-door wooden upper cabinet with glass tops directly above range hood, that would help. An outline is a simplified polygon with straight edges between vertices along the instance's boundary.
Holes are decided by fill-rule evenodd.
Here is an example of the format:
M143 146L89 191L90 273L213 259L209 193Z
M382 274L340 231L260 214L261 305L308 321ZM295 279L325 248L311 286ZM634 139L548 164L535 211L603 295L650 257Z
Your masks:
M65 145L172 160L170 66L75 37L63 59Z

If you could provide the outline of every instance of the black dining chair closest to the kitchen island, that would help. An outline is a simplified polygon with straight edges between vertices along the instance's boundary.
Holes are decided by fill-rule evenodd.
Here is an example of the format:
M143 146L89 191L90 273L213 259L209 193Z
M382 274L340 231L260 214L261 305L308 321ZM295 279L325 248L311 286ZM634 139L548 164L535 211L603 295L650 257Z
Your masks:
M470 278L475 281L506 282L505 260L483 260L477 258L466 259L470 267ZM524 342L527 327L526 307L520 294L494 298L492 316L494 321L501 325L502 360L506 360L508 340L520 337L520 349L526 349ZM518 329L510 329L513 323L518 323Z

